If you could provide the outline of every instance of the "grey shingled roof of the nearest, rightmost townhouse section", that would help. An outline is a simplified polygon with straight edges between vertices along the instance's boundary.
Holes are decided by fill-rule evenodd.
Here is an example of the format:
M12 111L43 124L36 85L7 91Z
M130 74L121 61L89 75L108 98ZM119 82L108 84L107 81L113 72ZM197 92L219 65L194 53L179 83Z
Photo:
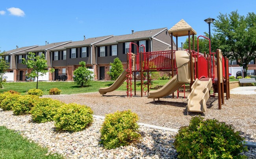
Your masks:
M96 45L110 45L110 44L116 44L118 42L128 42L132 40L140 40L140 39L146 39L146 38L152 38L159 33L161 33L164 30L167 30L167 28L160 28L160 29L152 29L147 31L136 31L133 34L126 34L126 35L118 35L113 36L112 38L109 38L107 40L104 40L102 42L97 43Z

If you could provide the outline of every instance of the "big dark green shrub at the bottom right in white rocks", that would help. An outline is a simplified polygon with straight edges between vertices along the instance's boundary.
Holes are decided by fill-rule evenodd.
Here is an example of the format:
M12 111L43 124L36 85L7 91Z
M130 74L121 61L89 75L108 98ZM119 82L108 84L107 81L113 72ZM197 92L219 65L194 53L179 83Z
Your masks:
M247 148L239 132L216 119L203 119L193 117L178 131L174 146L179 158L243 158L239 153Z

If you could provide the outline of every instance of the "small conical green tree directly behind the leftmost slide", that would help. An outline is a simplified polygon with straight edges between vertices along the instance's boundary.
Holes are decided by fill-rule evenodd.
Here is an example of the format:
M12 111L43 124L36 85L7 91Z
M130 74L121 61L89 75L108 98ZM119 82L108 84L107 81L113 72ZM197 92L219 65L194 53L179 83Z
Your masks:
M122 74L122 71L124 70L122 68L122 62L119 60L119 58L115 58L113 63L110 63L111 69L107 74L111 77L111 80L116 80L120 74Z

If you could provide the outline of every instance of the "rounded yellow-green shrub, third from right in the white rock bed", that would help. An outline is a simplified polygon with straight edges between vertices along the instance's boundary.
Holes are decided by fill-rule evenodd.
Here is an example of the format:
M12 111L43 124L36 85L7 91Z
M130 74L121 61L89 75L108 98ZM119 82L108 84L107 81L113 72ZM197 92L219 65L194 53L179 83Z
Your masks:
M81 131L93 122L92 114L91 108L85 105L63 105L54 116L56 130Z

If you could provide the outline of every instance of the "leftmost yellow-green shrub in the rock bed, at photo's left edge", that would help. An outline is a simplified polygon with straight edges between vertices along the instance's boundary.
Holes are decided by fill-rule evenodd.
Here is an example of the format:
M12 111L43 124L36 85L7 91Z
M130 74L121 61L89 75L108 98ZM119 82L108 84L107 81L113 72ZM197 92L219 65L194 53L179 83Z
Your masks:
M19 94L11 94L7 92L5 95L5 98L2 99L0 107L3 110L12 110L13 105L18 101L18 99L21 97Z

